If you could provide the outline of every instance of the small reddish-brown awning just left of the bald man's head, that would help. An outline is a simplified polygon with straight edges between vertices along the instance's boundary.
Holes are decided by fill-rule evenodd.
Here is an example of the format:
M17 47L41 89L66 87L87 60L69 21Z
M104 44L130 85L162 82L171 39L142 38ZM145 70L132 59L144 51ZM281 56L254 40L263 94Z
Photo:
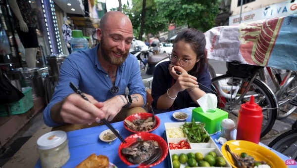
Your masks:
M100 19L89 17L70 17L77 27L99 28Z

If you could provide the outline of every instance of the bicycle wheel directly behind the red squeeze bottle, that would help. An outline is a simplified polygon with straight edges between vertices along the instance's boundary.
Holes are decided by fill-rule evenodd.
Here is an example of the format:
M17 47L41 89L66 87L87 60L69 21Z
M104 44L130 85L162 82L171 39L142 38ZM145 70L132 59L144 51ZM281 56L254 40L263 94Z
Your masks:
M254 95L254 101L263 108L263 122L261 130L261 138L265 136L275 123L277 118L277 102L273 97L273 92L263 82L255 79L246 96L236 104L235 108L230 105L240 96L240 91L244 89L244 84L250 81L250 78L236 78L229 75L222 75L211 80L212 88L215 88L218 97L218 108L229 113L229 118L232 119L236 126L238 122L238 112L241 104L249 101L251 95Z

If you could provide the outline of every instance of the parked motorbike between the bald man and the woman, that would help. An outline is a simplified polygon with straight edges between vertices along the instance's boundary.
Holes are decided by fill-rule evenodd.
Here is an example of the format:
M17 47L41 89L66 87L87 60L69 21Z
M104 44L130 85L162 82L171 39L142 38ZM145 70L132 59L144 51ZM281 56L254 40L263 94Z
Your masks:
M152 49L139 40L132 41L129 52L138 59L143 83L149 83L151 88L154 70L161 62L169 61L168 53L153 55Z

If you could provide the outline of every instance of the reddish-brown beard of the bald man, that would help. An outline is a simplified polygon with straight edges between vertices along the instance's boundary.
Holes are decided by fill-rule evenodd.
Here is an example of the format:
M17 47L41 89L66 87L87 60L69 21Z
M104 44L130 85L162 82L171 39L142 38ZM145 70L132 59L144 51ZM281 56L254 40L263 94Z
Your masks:
M112 65L116 65L116 66L122 65L125 62L126 58L128 57L128 54L129 54L127 51L121 52L118 49L107 49L106 45L104 44L103 38L101 38L100 47L101 47L101 55L102 55L103 59L106 62L108 62ZM112 52L120 54L120 55L122 55L122 57L117 58L112 55Z

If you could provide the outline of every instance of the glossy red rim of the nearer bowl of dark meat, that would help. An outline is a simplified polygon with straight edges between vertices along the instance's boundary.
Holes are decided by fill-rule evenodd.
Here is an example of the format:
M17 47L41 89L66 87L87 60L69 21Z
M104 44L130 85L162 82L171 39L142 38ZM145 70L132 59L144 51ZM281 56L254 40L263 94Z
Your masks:
M150 167L154 167L154 166L158 165L159 163L161 163L166 158L166 156L168 154L168 146L167 146L166 141L162 137L160 137L160 136L158 136L156 134L153 134L153 133L139 132L139 133L135 133L135 134L132 134L132 135L128 136L125 139L125 141L127 143L121 143L120 146L119 146L118 155L119 155L120 159L126 165L130 166L130 165L133 165L133 164L127 161L125 155L123 155L121 153L121 150L123 148L127 148L127 147L131 146L133 143L135 143L137 137L139 137L139 138L141 138L143 140L154 140L154 141L157 141L158 142L158 145L159 145L159 147L161 148L161 151L162 151L161 158L157 162L155 162L155 163L153 163L151 165L141 166L139 168L150 168Z

